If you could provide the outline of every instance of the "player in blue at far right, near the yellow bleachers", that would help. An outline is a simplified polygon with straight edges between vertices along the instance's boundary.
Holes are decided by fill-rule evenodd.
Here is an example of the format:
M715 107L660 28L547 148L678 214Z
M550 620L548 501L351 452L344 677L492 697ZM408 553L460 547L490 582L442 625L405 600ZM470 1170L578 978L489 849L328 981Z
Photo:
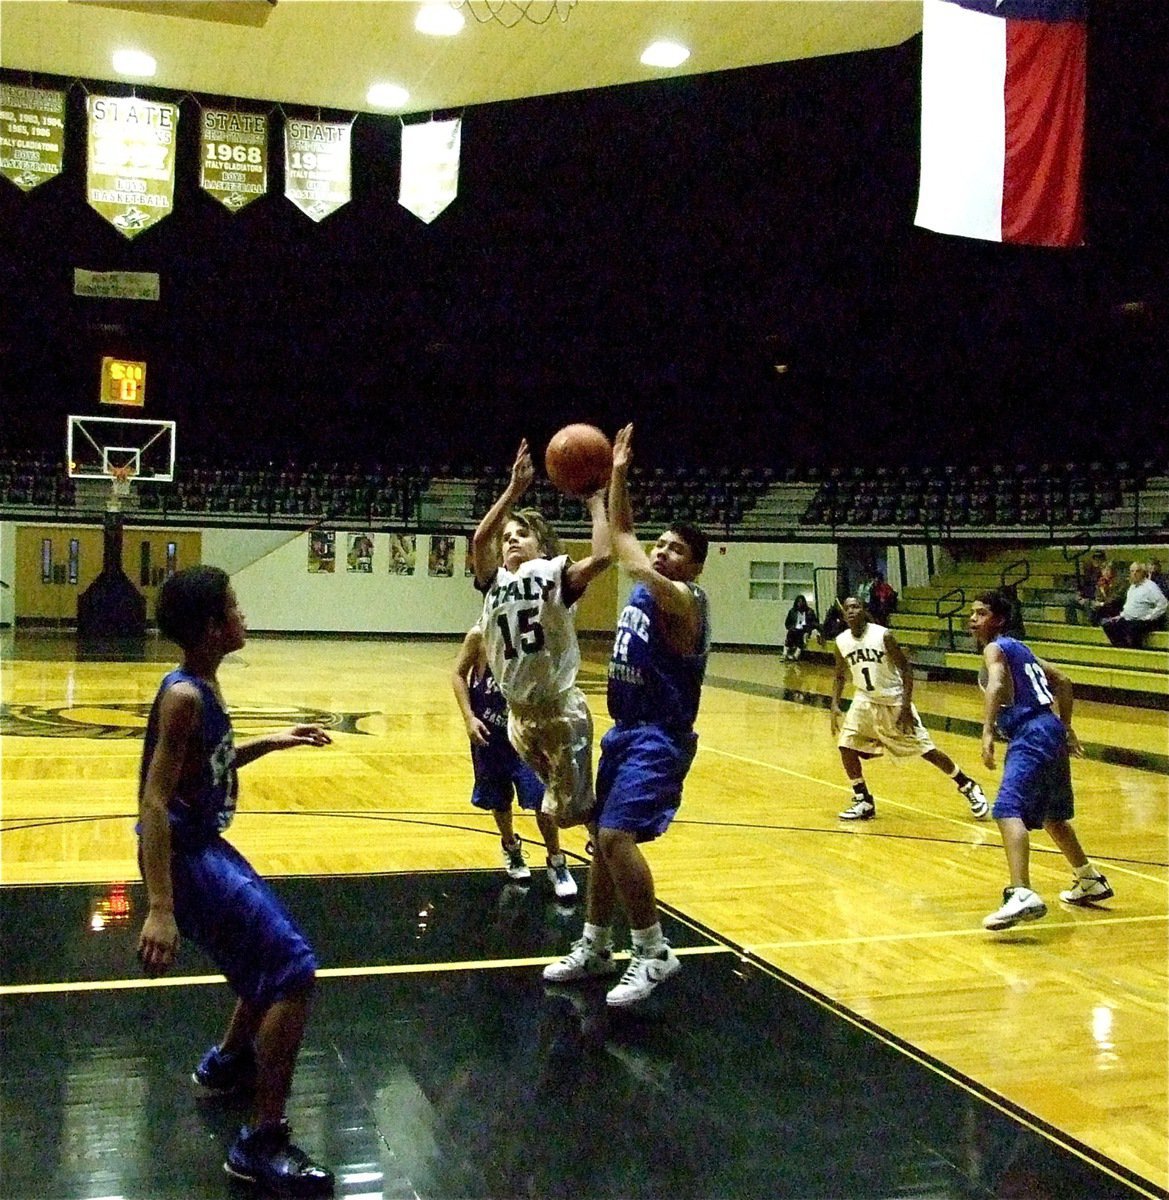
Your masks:
M1069 756L1083 755L1072 730L1072 680L1003 634L1011 614L1011 601L1000 592L978 595L970 612L970 630L983 652L982 761L988 768L995 764L995 730L1008 742L991 815L1002 834L1011 886L1002 907L983 920L994 930L1047 916L1047 905L1031 888L1031 829L1047 829L1075 872L1072 887L1060 893L1065 904L1091 905L1113 895L1072 828Z

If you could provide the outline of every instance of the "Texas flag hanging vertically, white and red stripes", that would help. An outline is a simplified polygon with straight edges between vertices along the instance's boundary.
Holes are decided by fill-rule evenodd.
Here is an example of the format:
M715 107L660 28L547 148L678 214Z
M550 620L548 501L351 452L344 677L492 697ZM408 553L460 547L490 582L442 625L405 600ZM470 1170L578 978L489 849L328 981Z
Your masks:
M1087 0L924 0L915 223L1084 241Z

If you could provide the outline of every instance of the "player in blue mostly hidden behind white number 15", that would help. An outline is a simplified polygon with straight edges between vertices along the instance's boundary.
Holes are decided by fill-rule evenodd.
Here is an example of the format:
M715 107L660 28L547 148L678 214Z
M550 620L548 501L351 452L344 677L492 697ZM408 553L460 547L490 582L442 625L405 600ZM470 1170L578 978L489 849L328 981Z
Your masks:
M547 851L548 881L557 899L571 900L577 890L576 880L560 850L560 830L556 817L540 810L544 799L540 776L508 740L508 702L487 666L487 650L478 625L472 625L463 638L450 683L470 739L470 763L475 773L470 803L496 818L508 877L516 881L532 877L523 857L523 839L515 832L511 820L514 794L521 809L535 812Z

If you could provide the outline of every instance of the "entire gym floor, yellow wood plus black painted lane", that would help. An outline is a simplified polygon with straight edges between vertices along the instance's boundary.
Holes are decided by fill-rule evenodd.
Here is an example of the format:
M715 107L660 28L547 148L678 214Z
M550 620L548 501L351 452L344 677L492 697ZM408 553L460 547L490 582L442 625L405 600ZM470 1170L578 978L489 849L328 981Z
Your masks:
M190 948L163 982L133 958L139 742L170 652L78 661L68 638L4 636L0 1190L223 1195L240 1114L188 1074L226 989ZM685 803L649 848L684 970L616 1019L600 989L541 984L578 906L499 869L454 653L253 637L221 673L241 736L334 731L242 773L230 836L322 960L292 1117L338 1195L1169 1194L1163 712L1077 708L1077 828L1115 899L1061 905L1069 871L1041 834L1050 913L991 935L994 826L928 764L883 761L877 820L838 821L828 668L717 653ZM604 656L582 672L598 736ZM916 700L993 793L976 689ZM578 830L566 848L583 890Z

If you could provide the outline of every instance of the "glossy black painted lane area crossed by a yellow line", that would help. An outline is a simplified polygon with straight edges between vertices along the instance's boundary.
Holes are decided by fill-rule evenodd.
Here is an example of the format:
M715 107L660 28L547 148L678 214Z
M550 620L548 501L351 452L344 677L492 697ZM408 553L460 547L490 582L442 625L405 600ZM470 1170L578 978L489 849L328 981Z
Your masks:
M683 913L665 914L681 976L609 1014L604 984L542 984L580 913L539 877L275 886L323 950L290 1116L338 1195L1135 1194ZM138 884L0 889L6 1200L248 1192L221 1168L240 1110L190 1082L230 997L191 948L162 983L134 976L142 902Z

